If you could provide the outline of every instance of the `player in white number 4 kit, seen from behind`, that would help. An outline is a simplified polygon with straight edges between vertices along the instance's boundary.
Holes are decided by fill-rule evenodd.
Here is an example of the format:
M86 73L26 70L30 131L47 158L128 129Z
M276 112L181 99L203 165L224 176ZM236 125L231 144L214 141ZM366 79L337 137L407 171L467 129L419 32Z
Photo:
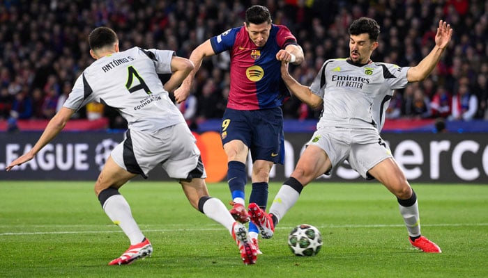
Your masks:
M6 170L31 160L82 106L91 101L111 106L127 120L128 131L100 172L95 193L108 217L128 236L130 247L109 265L132 263L153 252L119 188L137 174L146 178L157 165L181 183L194 208L229 230L243 262L255 263L257 249L243 224L234 220L220 199L208 195L206 172L195 137L169 99L169 92L193 69L192 62L168 50L133 47L119 51L117 35L107 27L94 29L89 44L90 54L96 61L78 77L63 108L49 121L36 145ZM158 74L171 74L171 77L163 85Z

